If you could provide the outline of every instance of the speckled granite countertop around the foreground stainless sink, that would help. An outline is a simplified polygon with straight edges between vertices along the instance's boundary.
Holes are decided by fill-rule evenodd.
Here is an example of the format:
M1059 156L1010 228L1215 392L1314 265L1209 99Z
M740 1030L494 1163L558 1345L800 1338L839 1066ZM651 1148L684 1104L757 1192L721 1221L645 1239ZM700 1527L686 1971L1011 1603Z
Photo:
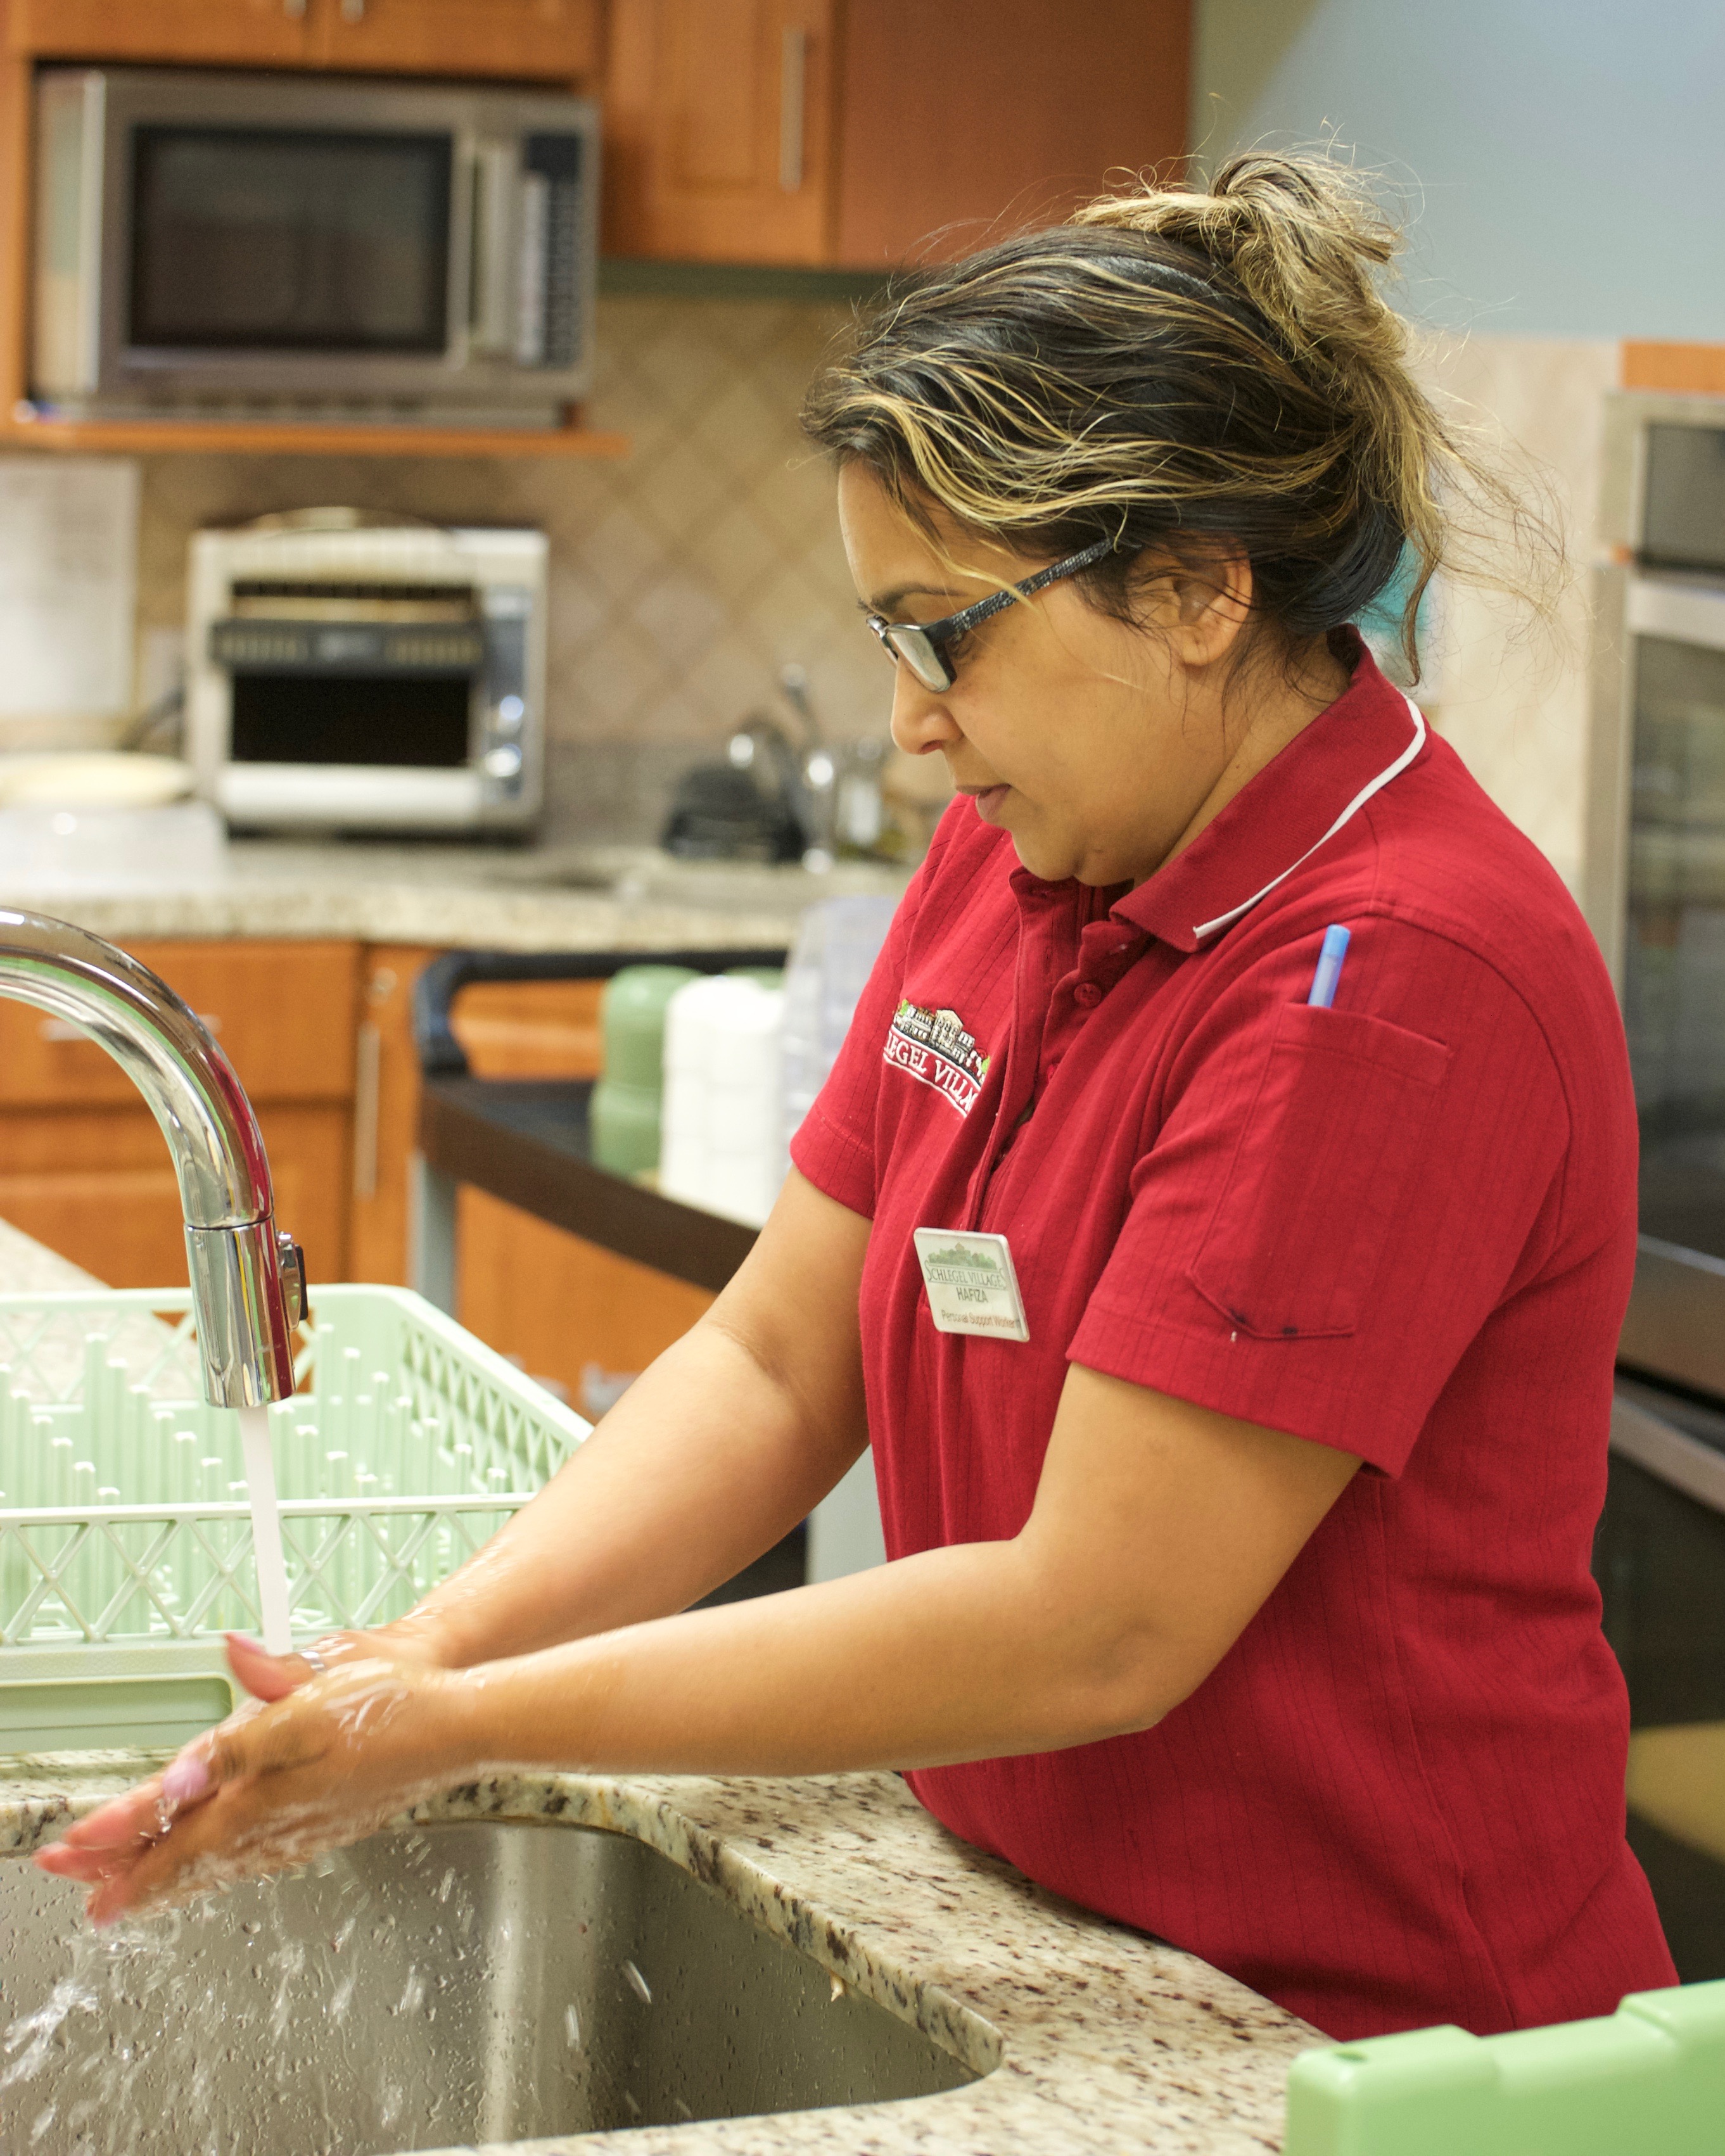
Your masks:
M0 1220L0 1294L93 1285ZM0 1856L52 1841L151 1764L116 1753L0 1761ZM636 1835L983 2076L899 2104L535 2141L535 2156L1246 2156L1281 2147L1287 2068L1324 2042L1195 1955L1102 1923L970 1850L893 1774L546 1774L457 1789L423 1815Z

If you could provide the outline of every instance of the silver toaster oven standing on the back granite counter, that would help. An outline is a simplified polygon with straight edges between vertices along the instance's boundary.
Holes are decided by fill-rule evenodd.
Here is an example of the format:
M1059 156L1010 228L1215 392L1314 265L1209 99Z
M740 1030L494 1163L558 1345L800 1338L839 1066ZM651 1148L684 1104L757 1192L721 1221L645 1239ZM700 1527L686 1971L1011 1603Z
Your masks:
M192 537L185 752L242 830L524 834L546 535L310 509Z

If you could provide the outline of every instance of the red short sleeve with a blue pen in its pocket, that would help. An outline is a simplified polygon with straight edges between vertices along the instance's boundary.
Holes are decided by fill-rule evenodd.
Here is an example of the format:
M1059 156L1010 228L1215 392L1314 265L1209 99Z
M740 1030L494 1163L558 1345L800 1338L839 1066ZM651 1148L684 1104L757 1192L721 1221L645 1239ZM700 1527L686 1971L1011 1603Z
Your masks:
M1070 1358L1395 1475L1550 1248L1570 1117L1486 959L1363 929L1352 1007L1302 1000L1302 949L1205 1013Z

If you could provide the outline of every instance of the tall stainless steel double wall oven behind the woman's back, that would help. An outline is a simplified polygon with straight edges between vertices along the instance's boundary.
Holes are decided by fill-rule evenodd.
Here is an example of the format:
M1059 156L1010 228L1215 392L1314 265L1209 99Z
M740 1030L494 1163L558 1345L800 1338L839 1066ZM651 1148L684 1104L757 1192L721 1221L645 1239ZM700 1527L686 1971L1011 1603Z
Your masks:
M1725 399L1606 431L1587 910L1619 983L1641 1244L1598 1576L1630 1839L1684 1977L1725 1977Z

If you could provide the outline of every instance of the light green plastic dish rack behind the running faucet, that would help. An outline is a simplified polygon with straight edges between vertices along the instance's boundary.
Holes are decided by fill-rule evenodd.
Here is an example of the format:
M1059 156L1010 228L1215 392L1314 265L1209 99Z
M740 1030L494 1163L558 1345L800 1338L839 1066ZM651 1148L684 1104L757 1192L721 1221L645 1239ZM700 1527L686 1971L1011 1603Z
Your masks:
M239 1416L185 1289L0 1296L0 1755L166 1749L235 1705L259 1628ZM401 1287L319 1287L270 1410L295 1634L446 1578L586 1423Z

